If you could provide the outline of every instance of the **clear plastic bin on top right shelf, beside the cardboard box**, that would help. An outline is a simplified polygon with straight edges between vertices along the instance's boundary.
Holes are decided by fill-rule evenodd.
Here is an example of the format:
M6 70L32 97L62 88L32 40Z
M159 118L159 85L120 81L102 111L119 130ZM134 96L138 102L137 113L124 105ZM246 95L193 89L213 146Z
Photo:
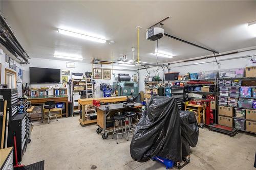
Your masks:
M243 77L244 77L244 68L219 70L219 78L243 78Z

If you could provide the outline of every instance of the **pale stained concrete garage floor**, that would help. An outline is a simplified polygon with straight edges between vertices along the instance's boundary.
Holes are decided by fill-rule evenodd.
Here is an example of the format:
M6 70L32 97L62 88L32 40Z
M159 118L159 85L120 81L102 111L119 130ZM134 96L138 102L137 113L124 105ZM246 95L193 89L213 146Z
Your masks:
M31 143L22 163L45 160L46 170L96 169L165 169L153 161L139 163L130 155L130 141L109 136L103 140L96 125L81 127L78 117L61 118L50 124L33 123ZM239 133L234 137L200 129L196 148L191 149L190 163L183 169L255 169L256 137Z

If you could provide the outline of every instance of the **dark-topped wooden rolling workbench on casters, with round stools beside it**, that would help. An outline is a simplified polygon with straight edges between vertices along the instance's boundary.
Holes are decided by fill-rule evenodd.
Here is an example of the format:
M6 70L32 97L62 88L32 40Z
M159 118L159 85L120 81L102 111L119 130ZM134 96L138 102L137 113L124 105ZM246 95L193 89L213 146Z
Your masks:
M142 104L140 103L133 103L134 107L123 107L123 103L117 104L109 104L109 105L102 105L97 107L97 126L100 129L99 133L103 130L102 138L108 138L108 133L114 130L114 127L106 128L106 117L107 116L114 116L116 112L125 112L125 111L135 111L141 112L140 108ZM107 109L106 107L109 107ZM98 130L96 131L98 133Z

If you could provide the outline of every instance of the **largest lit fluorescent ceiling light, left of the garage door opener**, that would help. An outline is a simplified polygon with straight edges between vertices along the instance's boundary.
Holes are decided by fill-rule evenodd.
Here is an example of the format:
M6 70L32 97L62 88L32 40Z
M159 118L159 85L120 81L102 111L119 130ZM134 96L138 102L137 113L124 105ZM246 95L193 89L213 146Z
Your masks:
M71 36L71 37L86 39L86 40L95 41L95 42L100 42L100 43L105 43L106 42L106 40L101 39L101 38L93 37L93 36L90 36L90 35L84 35L84 34L80 34L80 33L75 33L75 32L72 32L72 31L67 31L67 30L62 30L62 29L58 29L58 33L68 35L68 36Z

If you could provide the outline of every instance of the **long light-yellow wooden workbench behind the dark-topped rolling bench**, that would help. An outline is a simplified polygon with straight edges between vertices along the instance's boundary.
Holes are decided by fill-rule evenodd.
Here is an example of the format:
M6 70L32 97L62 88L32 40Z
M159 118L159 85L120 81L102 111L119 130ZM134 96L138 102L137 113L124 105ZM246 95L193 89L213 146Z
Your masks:
M78 104L81 105L82 113L79 118L79 123L81 126L96 123L97 120L87 120L86 114L88 112L88 107L93 104L93 100L99 101L100 103L114 103L114 102L124 102L127 100L127 96L115 96L110 98L88 98L88 99L78 99Z

